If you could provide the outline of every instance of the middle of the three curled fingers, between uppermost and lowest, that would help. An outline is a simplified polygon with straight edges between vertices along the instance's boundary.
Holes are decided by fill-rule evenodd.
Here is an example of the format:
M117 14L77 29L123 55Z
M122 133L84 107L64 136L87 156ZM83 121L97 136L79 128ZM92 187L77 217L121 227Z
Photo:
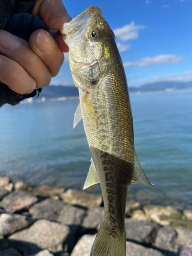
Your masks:
M46 87L51 74L45 63L31 50L28 42L0 30L0 54L13 59L32 76L38 88Z

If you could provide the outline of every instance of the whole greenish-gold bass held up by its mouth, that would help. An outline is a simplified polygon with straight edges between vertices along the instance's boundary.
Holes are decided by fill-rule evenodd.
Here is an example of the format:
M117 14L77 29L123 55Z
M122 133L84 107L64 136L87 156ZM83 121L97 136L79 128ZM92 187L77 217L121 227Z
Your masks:
M115 35L99 8L90 6L60 31L69 46L69 63L81 120L92 159L83 189L100 183L104 218L91 256L125 256L127 186L148 181L134 147L129 91Z

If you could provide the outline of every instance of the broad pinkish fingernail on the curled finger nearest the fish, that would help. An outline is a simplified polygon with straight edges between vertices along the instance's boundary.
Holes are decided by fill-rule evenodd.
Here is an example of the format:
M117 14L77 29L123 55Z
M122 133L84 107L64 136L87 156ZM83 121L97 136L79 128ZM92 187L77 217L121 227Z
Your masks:
M53 51L55 43L51 38L51 35L45 31L41 30L37 35L36 47L40 52L49 54Z

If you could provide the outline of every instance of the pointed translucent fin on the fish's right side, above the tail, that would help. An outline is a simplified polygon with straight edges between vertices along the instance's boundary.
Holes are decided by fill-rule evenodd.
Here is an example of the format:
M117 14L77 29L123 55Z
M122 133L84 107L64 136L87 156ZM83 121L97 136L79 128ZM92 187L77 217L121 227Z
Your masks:
M134 151L134 170L133 170L133 175L132 175L132 180L131 184L134 183L141 183L149 186L153 186L153 184L148 181L143 168L141 167L141 164L137 158L137 154Z

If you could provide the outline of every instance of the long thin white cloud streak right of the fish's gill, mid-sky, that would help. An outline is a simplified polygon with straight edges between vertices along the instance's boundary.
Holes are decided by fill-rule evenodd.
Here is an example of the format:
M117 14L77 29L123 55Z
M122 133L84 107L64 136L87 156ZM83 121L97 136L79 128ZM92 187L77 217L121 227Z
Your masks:
M125 62L123 63L124 68L128 69L133 66L138 66L141 68L145 67L152 67L154 64L161 64L161 63L176 63L180 62L183 57L178 55L170 55L170 54L162 54L155 57L146 57L132 62Z

